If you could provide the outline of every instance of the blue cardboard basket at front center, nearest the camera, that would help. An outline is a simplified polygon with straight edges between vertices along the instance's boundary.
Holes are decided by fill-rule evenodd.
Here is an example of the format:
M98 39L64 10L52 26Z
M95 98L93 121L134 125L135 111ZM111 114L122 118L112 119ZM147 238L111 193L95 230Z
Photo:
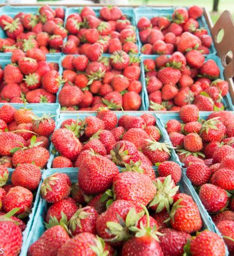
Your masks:
M66 173L70 177L72 183L77 182L78 168L47 169L46 171L44 171L42 175L42 182L44 179L46 179L50 175L53 175L54 173ZM39 189L38 189L39 191L40 191L40 186L42 185L42 182L39 185ZM194 200L194 202L197 204L199 212L201 214L202 223L203 223L202 230L208 229L220 235L218 230L216 230L214 224L212 224L211 217L209 217L207 211L204 210L204 207L202 206L201 201L199 200L199 197L197 196L197 194L192 193L191 187L188 186L187 178L185 178L184 175L181 178L178 185L180 185L180 192L190 195ZM30 245L33 244L35 241L37 241L41 237L41 235L44 233L44 231L46 231L46 228L44 227L44 218L46 216L47 209L48 209L48 203L46 202L46 200L42 198L42 196L39 196L39 205L37 207L37 212L34 216L33 226L27 238L26 245L24 248L22 248L23 255L26 255ZM228 255L227 250L225 255Z

